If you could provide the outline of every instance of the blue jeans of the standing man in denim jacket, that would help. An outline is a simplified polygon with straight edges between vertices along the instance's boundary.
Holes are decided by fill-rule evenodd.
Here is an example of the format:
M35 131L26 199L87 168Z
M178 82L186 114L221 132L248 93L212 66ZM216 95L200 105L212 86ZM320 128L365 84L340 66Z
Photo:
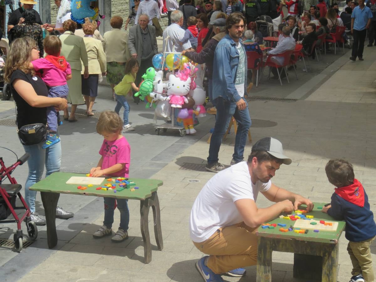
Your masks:
M242 99L245 101L244 97L242 97ZM222 138L224 133L226 133L232 116L238 123L232 158L234 161L242 161L244 158L244 147L246 146L248 138L248 130L252 123L249 116L248 104L246 109L240 111L236 103L226 101L223 97L218 97L215 99L215 102L217 120L215 121L214 131L210 140L208 164L218 162L218 152L221 147Z

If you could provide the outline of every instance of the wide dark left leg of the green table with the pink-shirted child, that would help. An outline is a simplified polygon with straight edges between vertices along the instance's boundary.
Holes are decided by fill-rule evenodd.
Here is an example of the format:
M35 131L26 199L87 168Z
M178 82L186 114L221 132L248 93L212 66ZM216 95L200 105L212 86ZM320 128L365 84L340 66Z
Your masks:
M56 234L56 207L58 206L59 193L41 192L42 203L47 223L47 244L50 249L58 244Z

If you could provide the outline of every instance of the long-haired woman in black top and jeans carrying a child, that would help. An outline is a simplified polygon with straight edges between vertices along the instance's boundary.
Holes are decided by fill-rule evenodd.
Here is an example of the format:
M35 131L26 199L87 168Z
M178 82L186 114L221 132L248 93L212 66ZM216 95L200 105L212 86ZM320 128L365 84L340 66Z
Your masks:
M43 80L35 76L35 71L29 68L30 61L39 58L39 50L32 38L18 38L12 42L5 65L5 80L10 83L12 95L17 105L17 127L20 128L32 123L47 123L47 107L55 106L56 110L67 108L67 100L64 98L50 98L48 89ZM60 170L61 142L53 144L47 149L42 149L44 142L26 146L26 153L30 154L27 161L29 175L25 184L25 200L29 205L31 220L36 225L44 225L44 218L35 212L36 191L30 191L29 187L41 180L44 166L46 176ZM72 212L57 208L56 215L59 218L73 217Z

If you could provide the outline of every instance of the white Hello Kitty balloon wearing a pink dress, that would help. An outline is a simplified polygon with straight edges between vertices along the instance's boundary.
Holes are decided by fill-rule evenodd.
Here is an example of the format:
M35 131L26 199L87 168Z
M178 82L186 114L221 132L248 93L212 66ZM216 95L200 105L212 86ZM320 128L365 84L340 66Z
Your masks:
M190 77L186 81L180 80L179 77L173 74L168 77L167 99L170 101L171 107L181 108L184 103L188 103L185 95L189 93L190 87Z

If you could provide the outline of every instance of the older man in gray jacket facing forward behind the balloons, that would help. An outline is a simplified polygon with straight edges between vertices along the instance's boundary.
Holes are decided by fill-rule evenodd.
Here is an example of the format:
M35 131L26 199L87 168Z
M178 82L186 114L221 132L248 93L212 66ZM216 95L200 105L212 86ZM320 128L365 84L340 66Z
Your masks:
M128 46L130 55L138 61L139 69L136 75L136 85L142 80L142 75L147 68L153 66L153 56L158 53L155 27L149 23L149 16L141 14L138 17L138 24L129 29ZM135 97L136 98L136 97ZM135 99L138 103L138 99Z

